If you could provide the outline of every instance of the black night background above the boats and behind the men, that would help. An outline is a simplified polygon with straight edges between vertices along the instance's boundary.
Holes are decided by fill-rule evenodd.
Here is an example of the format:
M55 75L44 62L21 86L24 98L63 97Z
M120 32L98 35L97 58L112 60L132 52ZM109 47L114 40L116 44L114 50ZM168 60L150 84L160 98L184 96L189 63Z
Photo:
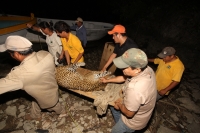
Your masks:
M122 24L149 57L172 46L185 67L200 74L199 5L198 0L4 0L0 13Z

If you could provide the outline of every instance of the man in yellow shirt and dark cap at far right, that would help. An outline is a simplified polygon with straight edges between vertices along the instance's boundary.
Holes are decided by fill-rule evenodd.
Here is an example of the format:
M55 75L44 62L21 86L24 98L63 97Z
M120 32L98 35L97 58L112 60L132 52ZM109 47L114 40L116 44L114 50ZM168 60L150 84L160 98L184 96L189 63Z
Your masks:
M173 47L165 47L162 52L158 54L158 57L161 59L148 59L149 62L158 64L156 70L157 100L168 95L181 80L185 68L178 56L175 55L175 52L176 50Z

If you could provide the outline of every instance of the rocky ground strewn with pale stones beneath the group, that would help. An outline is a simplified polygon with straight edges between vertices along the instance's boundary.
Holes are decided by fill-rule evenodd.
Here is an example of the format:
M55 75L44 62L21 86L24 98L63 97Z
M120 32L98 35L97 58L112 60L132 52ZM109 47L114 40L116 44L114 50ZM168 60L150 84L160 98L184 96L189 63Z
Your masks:
M110 38L110 37L109 37ZM98 70L104 38L89 42L85 49L86 68ZM34 44L36 50L46 45ZM0 77L17 65L6 53L1 53ZM156 69L156 66L150 64ZM148 126L138 133L199 133L200 130L200 77L186 70L180 85L168 96L156 103ZM98 116L93 99L72 93L60 87L60 102L66 106L67 116L59 119L54 113L43 111L41 120L26 120L24 116L31 106L31 97L18 90L0 95L0 133L110 133L115 124L108 109Z

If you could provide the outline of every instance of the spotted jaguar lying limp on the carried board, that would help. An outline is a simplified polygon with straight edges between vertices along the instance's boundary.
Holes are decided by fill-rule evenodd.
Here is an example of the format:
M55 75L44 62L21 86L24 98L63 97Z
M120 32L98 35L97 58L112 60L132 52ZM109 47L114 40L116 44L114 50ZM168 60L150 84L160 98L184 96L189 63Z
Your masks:
M100 81L101 77L112 76L108 71L92 71L82 68L84 64L76 63L73 65L57 66L56 80L58 85L81 91L99 91L104 90L105 83Z

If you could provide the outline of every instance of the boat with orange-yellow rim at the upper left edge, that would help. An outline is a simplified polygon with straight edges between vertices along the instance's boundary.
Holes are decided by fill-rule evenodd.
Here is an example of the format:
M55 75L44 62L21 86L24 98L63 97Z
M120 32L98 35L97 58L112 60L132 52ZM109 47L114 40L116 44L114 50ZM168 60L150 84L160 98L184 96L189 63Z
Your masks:
M26 37L27 23L35 24L37 18L31 13L30 17L15 16L15 15L1 15L0 16L0 44L4 44L5 40L10 35L20 35Z

